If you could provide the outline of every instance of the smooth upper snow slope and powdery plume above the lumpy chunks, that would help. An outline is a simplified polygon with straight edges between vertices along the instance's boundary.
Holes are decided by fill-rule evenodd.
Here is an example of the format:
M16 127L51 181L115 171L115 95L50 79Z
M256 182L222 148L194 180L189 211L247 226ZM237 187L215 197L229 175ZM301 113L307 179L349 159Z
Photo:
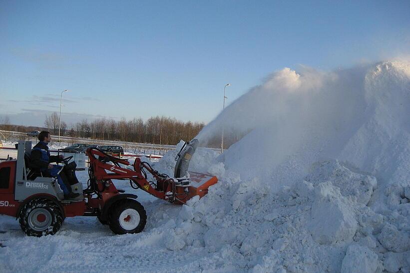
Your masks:
M396 164L409 154L409 88L408 61L334 72L285 68L234 101L198 138L206 145L222 127L227 138L243 136L220 157L242 179L291 184L312 163L336 158L391 180L409 168L409 159Z

